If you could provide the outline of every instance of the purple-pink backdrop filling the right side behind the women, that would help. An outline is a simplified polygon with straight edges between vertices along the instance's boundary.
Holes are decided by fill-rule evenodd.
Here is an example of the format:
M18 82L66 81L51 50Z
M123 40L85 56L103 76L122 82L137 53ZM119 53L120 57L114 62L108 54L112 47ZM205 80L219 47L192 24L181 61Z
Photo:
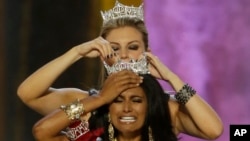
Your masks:
M250 1L145 0L144 5L152 52L218 112L224 133L216 141L229 141L230 124L250 124Z

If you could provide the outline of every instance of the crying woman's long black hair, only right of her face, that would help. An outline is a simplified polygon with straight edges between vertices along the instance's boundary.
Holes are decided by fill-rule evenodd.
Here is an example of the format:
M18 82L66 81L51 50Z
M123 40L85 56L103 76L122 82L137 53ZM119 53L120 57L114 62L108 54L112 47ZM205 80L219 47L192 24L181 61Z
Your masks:
M177 141L173 133L170 111L168 107L169 95L165 94L160 83L152 75L143 75L141 87L144 90L147 102L148 113L144 124L144 130L152 129L154 141ZM143 135L148 140L148 133ZM143 139L144 140L144 139Z

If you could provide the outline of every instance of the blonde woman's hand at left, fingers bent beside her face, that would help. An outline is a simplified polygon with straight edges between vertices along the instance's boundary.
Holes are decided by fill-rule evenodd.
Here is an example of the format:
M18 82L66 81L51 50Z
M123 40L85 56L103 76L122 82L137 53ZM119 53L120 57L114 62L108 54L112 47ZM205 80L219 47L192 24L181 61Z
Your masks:
M100 56L105 59L114 55L110 43L102 37L95 38L89 42L82 43L75 47L82 57L94 58Z

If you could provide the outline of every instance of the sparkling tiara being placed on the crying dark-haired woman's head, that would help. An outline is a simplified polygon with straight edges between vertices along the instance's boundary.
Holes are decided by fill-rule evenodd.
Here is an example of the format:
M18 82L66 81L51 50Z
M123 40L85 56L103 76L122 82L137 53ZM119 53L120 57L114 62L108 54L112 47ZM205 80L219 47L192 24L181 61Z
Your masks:
M103 62L103 64L107 70L108 75L122 70L131 70L137 74L150 74L145 54L143 54L142 58L137 61L135 61L134 59L130 59L129 62L124 62L118 59L118 61L112 66L108 65L105 61Z

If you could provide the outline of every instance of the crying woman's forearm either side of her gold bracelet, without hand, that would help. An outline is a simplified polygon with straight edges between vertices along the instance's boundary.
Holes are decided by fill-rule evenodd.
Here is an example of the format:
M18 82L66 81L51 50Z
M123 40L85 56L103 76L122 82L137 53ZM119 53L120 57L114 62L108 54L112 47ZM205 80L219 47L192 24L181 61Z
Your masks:
M85 114L82 115L83 119L85 119L87 113L104 104L99 96L86 97L85 99L82 99L81 102L84 104L85 109ZM34 125L33 135L38 141L66 141L68 140L67 137L60 134L60 132L69 126L70 123L71 121L66 114L62 110L56 109Z

